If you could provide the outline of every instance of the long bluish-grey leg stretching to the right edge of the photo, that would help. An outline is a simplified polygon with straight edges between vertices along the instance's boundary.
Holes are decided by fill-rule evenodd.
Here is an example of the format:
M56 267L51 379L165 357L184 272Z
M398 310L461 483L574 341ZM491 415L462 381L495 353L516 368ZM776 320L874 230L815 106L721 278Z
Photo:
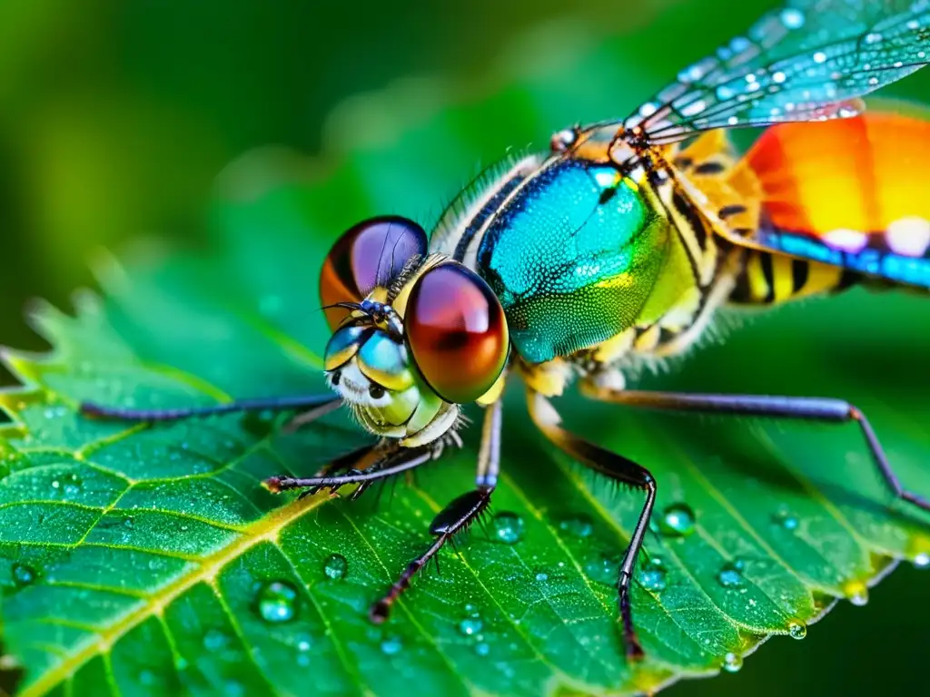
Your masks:
M644 390L611 390L582 384L581 391L599 401L646 409L704 414L734 414L763 416L808 421L855 421L869 447L872 460L888 489L903 501L930 511L930 501L905 489L884 454L882 443L872 429L869 419L848 401L816 397L773 397L767 395L696 394L687 392L651 392Z

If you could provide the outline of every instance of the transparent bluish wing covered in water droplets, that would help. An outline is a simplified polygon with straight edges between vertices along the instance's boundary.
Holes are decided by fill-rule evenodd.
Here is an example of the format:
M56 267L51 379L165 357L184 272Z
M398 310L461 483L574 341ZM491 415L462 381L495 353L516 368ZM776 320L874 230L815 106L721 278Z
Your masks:
M930 0L790 0L680 72L625 122L649 142L711 128L853 116L930 62Z

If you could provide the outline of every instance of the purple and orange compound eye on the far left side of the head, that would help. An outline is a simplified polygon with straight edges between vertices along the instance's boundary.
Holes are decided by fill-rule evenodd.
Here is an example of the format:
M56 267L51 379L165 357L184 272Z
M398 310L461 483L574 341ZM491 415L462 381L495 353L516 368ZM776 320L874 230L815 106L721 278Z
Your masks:
M380 216L363 220L346 230L326 255L320 272L323 304L361 302L376 286L388 286L411 256L425 255L426 232L413 220ZM334 331L349 310L326 310Z

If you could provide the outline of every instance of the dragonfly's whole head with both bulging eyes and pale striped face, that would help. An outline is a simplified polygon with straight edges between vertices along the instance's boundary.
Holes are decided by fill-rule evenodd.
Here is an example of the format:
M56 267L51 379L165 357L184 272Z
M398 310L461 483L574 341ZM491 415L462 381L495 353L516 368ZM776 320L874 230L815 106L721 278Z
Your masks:
M320 296L333 330L326 380L372 433L435 441L456 426L459 405L497 393L510 348L498 298L472 270L429 255L412 220L376 217L345 232Z

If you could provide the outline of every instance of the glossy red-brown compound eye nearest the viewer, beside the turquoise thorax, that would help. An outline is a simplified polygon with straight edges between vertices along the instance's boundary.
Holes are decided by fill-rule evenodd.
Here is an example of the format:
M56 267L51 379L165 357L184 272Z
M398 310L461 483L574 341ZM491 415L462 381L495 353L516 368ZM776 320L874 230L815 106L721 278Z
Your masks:
M419 372L445 401L475 401L504 369L504 310L484 279L457 263L426 271L410 292L407 344Z

